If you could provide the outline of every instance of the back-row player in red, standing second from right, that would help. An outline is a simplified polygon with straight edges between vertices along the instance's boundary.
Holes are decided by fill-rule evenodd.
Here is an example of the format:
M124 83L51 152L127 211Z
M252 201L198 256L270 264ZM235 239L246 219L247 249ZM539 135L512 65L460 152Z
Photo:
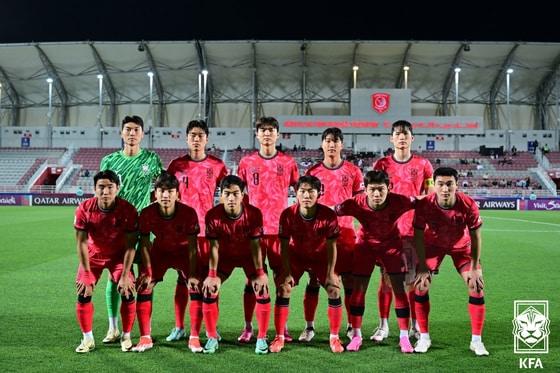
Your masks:
M351 162L342 159L344 149L344 136L339 128L327 128L321 136L324 158L309 170L307 175L316 176L321 181L321 196L319 201L323 205L334 207L335 205L352 198L352 196L363 191L362 171ZM352 257L356 242L354 221L350 216L338 218L340 235L336 242L337 263L336 271L342 276L344 285L344 305L348 315L348 332L351 336L350 325L350 297L352 296ZM314 319L317 304L319 302L319 288L310 274L309 284L305 288L303 298L303 310L306 327L299 336L300 341L309 342L315 335Z

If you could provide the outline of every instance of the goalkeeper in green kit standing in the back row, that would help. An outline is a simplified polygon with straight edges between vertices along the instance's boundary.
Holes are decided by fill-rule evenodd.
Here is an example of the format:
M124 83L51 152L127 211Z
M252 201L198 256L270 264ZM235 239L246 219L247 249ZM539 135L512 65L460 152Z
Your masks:
M139 116L126 116L121 124L122 150L108 154L101 160L99 169L114 171L120 180L119 197L130 202L138 211L150 204L153 181L162 170L159 156L150 150L142 149L144 121ZM140 255L136 261L140 260ZM109 280L105 289L109 330L103 343L119 339L118 308L119 293ZM130 342L132 345L132 342Z

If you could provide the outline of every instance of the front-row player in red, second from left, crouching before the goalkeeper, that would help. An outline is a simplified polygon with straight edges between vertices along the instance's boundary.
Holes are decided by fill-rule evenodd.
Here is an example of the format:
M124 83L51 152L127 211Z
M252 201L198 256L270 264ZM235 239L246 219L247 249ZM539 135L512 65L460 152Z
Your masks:
M142 273L137 280L137 313L140 341L133 351L144 352L153 347L151 337L152 293L169 268L182 273L187 279L191 305L191 335L188 346L192 352L202 352L199 341L202 322L202 293L197 276L197 240L199 233L196 211L179 202L179 181L168 172L162 172L155 183L157 202L140 214L140 249ZM155 236L150 242L150 234Z

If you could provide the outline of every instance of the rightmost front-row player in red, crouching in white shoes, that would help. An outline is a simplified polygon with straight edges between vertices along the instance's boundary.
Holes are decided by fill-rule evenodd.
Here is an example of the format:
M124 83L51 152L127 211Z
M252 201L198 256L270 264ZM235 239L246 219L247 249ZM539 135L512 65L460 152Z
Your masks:
M472 330L470 349L477 356L485 356L489 353L481 339L486 313L480 266L482 220L476 202L457 191L457 179L457 170L438 168L434 172L435 193L416 204L413 225L418 268L414 285L420 339L414 351L427 352L432 344L428 333L431 274L439 268L445 255L449 255L469 291L468 309Z

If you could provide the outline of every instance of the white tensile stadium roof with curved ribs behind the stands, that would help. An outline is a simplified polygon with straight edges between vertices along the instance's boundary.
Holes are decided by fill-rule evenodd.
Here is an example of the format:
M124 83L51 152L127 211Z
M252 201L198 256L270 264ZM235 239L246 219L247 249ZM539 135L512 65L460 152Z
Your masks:
M262 115L348 115L353 66L358 88L403 88L408 66L413 115L479 115L487 129L506 128L510 115L512 129L558 128L560 43L438 41L2 44L0 124L46 125L50 77L55 126L111 126L130 113L180 126L201 110L203 69L211 126L250 127Z

